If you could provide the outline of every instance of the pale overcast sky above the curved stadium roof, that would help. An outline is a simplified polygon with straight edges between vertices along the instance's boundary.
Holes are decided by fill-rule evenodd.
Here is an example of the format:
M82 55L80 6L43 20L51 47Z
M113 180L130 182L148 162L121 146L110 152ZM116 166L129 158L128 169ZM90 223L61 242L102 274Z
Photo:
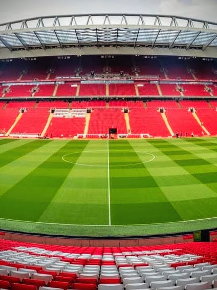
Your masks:
M0 23L84 13L167 14L217 23L217 0L0 0Z

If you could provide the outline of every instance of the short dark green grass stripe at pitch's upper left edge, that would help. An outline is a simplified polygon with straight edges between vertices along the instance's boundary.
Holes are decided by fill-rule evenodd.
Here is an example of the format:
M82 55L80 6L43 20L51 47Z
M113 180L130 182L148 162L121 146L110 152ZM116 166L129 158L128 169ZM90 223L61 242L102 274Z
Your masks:
M25 144L21 142L21 146L19 146L19 148L15 147L11 150L1 153L0 154L0 168L16 160L17 158L20 158L28 154L29 152L41 146L44 146L45 141L51 142L50 140L31 140Z

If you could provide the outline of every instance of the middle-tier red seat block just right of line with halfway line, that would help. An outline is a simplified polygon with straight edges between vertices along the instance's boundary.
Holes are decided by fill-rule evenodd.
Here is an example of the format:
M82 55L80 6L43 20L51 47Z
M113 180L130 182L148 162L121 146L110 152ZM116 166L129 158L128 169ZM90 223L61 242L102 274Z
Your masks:
M136 91L134 84L110 84L110 96L135 96Z

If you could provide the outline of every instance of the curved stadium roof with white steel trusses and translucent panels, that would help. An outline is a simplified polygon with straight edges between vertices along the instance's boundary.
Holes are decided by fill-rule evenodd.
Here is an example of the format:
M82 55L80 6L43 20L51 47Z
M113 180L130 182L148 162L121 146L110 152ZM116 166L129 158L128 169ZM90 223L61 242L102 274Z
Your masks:
M81 14L0 24L0 49L217 47L217 23L169 15ZM78 51L78 50L76 50Z

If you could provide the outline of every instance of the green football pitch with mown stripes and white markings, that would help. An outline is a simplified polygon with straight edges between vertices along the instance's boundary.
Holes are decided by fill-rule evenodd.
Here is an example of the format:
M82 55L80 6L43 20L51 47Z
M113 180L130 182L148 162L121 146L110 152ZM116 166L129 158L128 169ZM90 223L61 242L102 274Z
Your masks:
M139 236L217 226L217 138L0 140L0 229Z

